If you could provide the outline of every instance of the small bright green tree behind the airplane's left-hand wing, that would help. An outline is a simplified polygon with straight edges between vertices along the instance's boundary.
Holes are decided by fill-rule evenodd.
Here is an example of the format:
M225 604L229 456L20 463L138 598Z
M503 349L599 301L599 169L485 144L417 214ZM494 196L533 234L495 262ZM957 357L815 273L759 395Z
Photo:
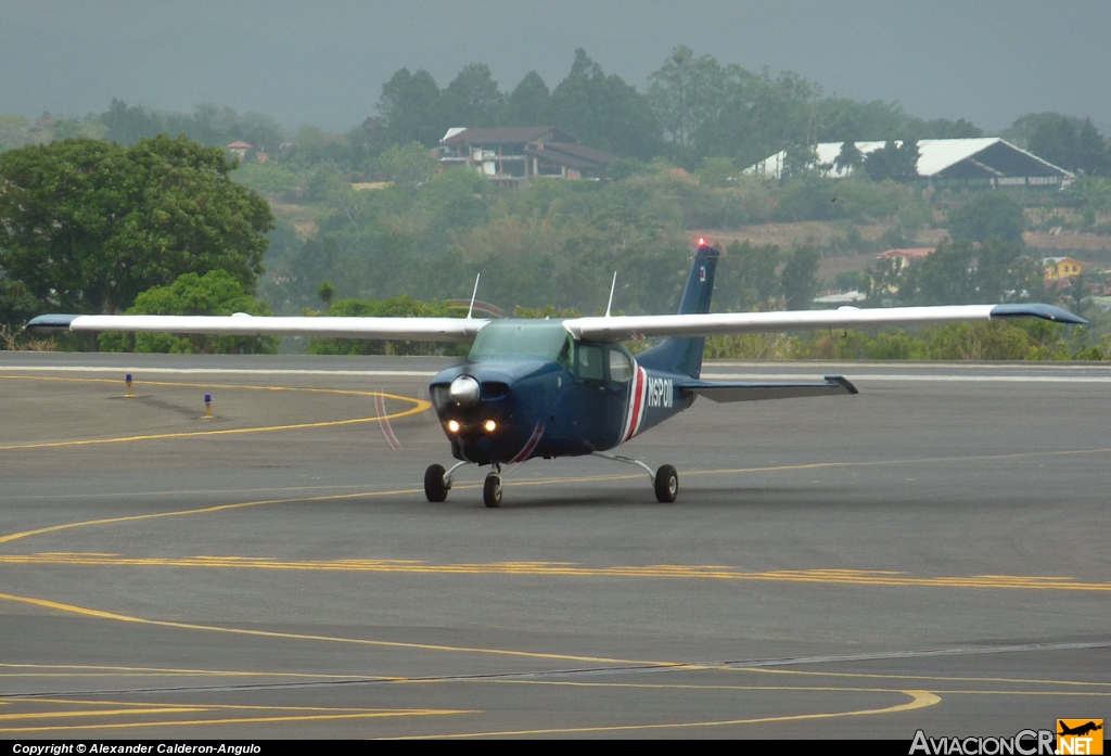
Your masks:
M209 271L203 276L186 273L169 286L154 286L136 298L128 315L272 315L270 305L243 292L242 284L227 271ZM272 336L213 336L170 333L116 333L98 336L107 352L160 352L170 354L273 354Z

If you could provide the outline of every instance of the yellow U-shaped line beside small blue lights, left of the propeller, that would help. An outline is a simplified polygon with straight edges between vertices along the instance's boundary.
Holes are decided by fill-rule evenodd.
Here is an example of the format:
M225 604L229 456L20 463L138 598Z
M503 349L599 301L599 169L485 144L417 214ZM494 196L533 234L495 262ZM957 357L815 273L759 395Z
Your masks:
M79 383L117 383L116 381L109 381L107 379L62 379L62 377L41 377L41 376L26 376L26 375L0 375L0 380L8 381L66 381L66 382L79 382ZM226 385L226 384L206 384L206 383L169 383L169 382L158 382L158 381L144 381L147 385L156 386L184 386L184 387L207 387L207 389L228 389L228 390L244 390L244 391L290 391L290 392L307 392L316 394L346 394L349 396L382 396L386 399L393 399L401 402L411 402L412 407L404 410L402 412L396 412L388 415L371 415L369 417L354 417L351 420L332 420L319 423L296 423L290 425L268 425L260 427L239 427L239 429L224 429L221 431L183 431L179 433L154 433L149 435L137 435L137 436L121 436L118 439L84 439L79 441L56 441L56 442L39 442L39 443L28 443L28 444L10 444L7 446L0 446L0 452L19 451L27 448L58 448L62 446L90 446L94 444L122 444L131 443L136 441L158 441L164 439L190 439L194 436L217 436L217 435L236 435L243 433L272 433L277 431L297 431L304 429L319 429L319 427L337 427L340 425L356 425L359 423L377 423L382 420L398 420L399 417L408 417L409 415L419 414L432 406L431 402L422 399L416 399L412 396L399 396L397 394L388 394L380 391L350 391L341 389L300 389L290 386L249 386L249 385Z

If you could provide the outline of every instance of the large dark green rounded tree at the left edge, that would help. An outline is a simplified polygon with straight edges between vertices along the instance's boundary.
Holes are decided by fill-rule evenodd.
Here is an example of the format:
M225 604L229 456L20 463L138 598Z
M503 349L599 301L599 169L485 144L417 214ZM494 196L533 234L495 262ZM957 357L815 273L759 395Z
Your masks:
M76 312L118 312L151 286L213 269L251 292L273 219L231 181L233 168L223 150L183 137L10 150L0 155L0 268Z

